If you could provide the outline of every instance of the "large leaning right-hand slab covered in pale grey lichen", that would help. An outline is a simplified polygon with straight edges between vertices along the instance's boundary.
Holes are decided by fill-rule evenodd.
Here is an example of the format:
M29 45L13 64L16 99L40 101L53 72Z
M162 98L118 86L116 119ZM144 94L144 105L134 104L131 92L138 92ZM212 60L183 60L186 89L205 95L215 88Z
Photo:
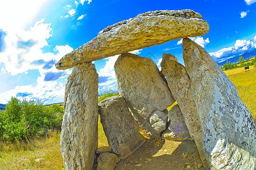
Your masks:
M256 128L237 88L209 54L183 39L183 58L212 169L255 169Z

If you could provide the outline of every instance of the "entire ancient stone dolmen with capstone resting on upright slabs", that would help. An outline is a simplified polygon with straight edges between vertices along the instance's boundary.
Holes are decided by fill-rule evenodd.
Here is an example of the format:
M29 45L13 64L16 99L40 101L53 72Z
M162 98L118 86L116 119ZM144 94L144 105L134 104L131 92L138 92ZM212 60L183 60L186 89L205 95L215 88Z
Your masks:
M192 10L148 11L104 28L58 61L65 86L61 152L66 169L114 169L145 138L195 141L205 169L256 169L256 128L237 88L209 54L187 37L209 25ZM164 53L162 70L129 52L183 39L184 65ZM121 96L98 103L93 61L120 54L114 69ZM174 104L170 111L167 107ZM109 147L98 148L98 115Z

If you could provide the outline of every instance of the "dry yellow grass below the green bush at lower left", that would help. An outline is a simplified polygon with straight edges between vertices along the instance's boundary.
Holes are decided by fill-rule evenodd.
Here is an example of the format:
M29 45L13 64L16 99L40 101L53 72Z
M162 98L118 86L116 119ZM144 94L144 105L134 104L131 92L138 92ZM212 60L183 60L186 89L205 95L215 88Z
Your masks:
M44 160L36 162L35 159ZM48 138L31 139L15 145L2 142L0 169L64 169L60 151L60 133Z

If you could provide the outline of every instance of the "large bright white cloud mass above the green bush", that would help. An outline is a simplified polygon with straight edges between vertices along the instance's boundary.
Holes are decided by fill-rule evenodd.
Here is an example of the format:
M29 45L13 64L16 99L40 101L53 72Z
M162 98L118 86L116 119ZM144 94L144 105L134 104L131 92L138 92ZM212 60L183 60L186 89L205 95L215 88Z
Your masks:
M57 61L65 54L73 49L68 45L56 45L55 49L59 52L43 53L42 48L48 46L48 39L52 36L51 24L44 23L44 19L34 21L38 16L42 5L45 1L3 1L0 6L1 29L6 33L5 49L0 53L0 63L4 63L1 69L1 74L18 75L20 77L29 73L30 70L39 70L40 76L36 80L36 85L32 86L16 86L15 88L6 90L0 94L0 103L6 103L11 99L11 96L16 96L19 92L27 92L32 95L27 96L29 99L47 100L47 103L62 100L64 95L64 82L61 79L53 81L45 81L46 73L65 73L59 74L60 78L67 76L71 71L59 71L55 67L48 70L43 69L43 66L32 64L33 61L43 60L49 62ZM15 3L15 6L13 5ZM28 5L29 4L29 5ZM11 8L11 10L10 10ZM14 15L13 11L18 15ZM32 27L30 27L32 25ZM28 27L29 26L29 27ZM20 42L23 45L20 46ZM22 44L21 43L21 44ZM6 84L10 82L5 82ZM30 83L30 82L28 82ZM8 86L6 86L8 87ZM3 91L3 90L2 90ZM19 97L20 98L20 97Z

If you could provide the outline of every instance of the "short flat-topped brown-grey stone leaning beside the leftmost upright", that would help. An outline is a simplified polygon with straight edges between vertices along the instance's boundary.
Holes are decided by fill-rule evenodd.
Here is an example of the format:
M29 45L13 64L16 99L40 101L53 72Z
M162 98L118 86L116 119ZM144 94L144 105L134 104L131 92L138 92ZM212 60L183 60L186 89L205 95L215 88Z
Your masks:
M139 133L125 99L121 96L109 97L99 104L101 124L112 151L123 159L132 154L144 142Z

